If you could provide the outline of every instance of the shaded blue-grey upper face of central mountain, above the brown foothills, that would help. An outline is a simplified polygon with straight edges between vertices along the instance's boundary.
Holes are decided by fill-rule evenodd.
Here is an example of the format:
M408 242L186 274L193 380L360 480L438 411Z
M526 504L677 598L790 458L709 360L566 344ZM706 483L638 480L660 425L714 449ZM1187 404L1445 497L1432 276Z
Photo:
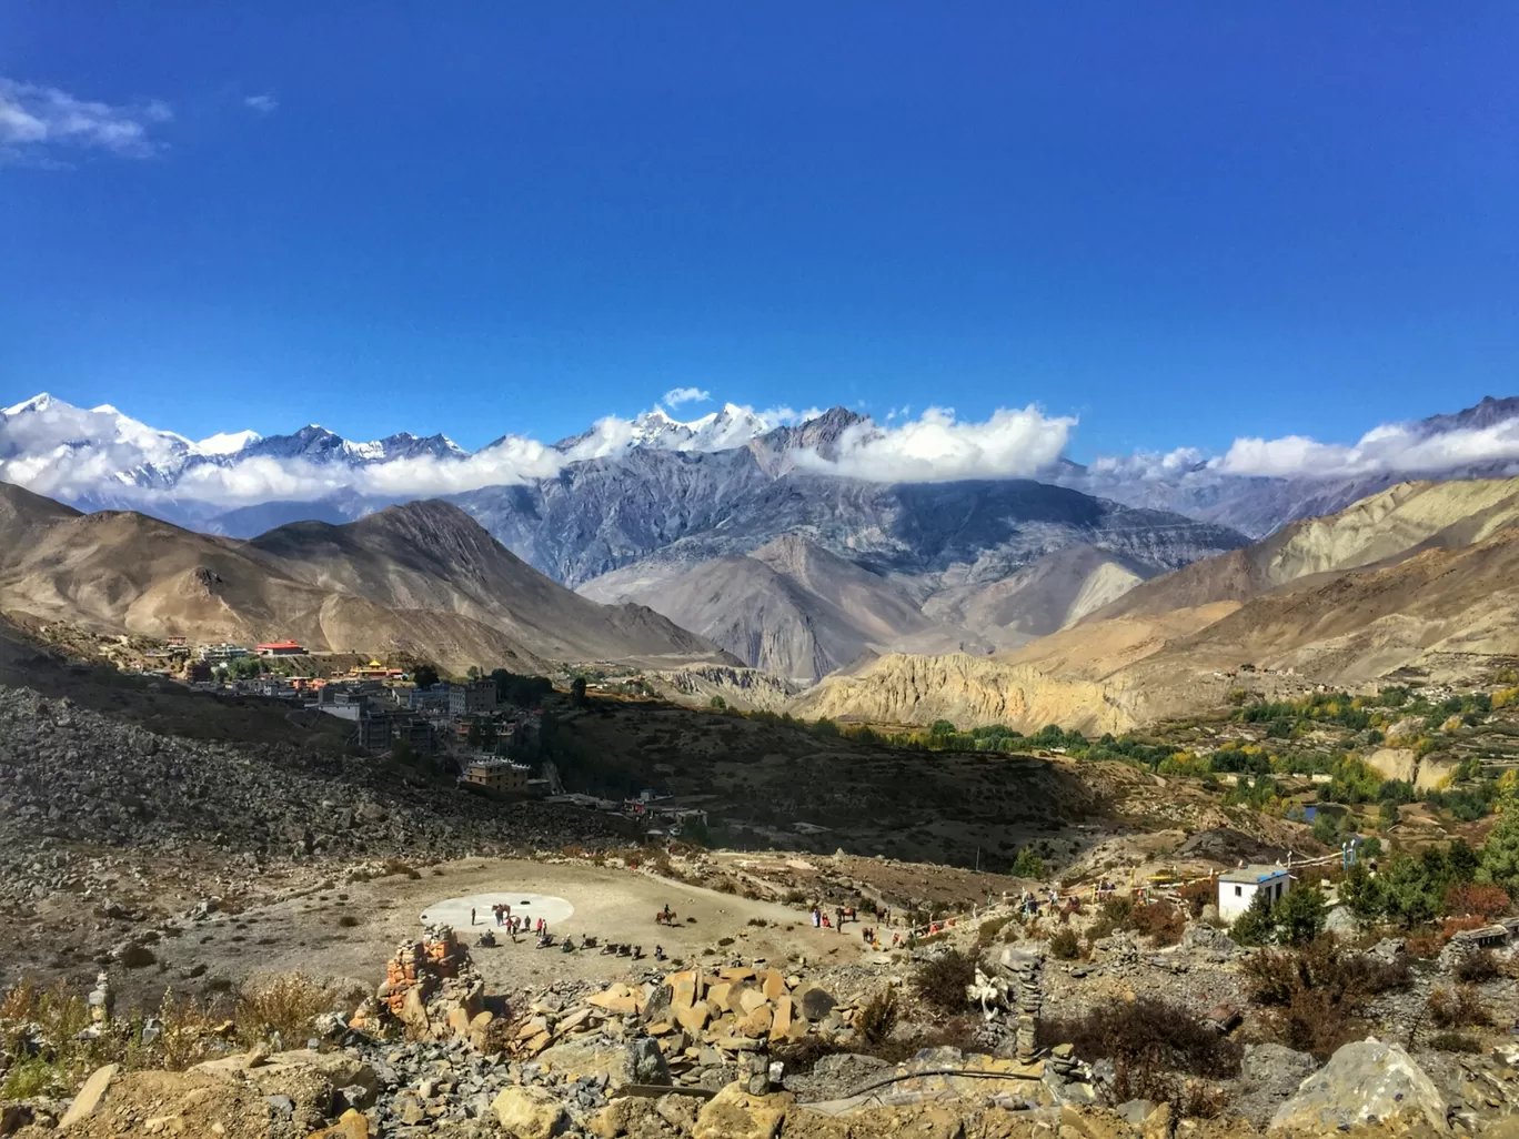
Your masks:
M696 565L804 535L876 573L957 573L993 582L1071 545L1173 570L1246 545L1224 527L1103 501L1031 480L867 483L790 471L749 450L635 453L559 478L454 495L504 545L580 586L653 554Z

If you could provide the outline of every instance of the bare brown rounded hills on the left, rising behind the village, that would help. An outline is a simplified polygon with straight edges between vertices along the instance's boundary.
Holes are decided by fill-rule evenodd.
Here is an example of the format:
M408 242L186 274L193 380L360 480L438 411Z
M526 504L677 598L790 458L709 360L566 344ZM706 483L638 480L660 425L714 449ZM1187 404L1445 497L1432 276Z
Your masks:
M0 483L0 609L108 632L404 650L460 670L731 662L649 611L603 609L542 579L436 501L238 542L131 512L79 515Z

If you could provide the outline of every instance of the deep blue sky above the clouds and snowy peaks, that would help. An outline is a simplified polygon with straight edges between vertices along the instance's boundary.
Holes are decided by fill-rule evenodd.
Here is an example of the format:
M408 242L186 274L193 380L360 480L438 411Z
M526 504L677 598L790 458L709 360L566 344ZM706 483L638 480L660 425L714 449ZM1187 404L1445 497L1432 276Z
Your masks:
M0 405L1353 439L1519 389L1516 58L1511 3L12 3Z

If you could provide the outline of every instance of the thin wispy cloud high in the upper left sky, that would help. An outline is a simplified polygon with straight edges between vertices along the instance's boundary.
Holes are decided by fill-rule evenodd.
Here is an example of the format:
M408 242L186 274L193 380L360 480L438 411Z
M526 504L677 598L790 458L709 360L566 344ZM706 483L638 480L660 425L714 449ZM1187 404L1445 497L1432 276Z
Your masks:
M67 167L68 152L152 158L166 143L149 131L173 118L159 100L112 106L76 99L56 87L0 77L0 162Z

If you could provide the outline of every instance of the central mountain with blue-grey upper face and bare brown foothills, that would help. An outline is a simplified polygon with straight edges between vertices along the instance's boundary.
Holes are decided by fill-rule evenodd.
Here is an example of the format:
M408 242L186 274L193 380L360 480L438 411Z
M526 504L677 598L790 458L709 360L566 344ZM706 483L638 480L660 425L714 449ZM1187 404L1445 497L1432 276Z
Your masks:
M650 492L653 483L681 494ZM682 510L638 510L668 501ZM867 650L1016 647L1244 541L1028 480L880 484L796 471L770 480L743 451L643 456L580 469L536 503L513 487L478 492L471 506L571 580L611 563L580 586L588 597L649 604L799 683Z

